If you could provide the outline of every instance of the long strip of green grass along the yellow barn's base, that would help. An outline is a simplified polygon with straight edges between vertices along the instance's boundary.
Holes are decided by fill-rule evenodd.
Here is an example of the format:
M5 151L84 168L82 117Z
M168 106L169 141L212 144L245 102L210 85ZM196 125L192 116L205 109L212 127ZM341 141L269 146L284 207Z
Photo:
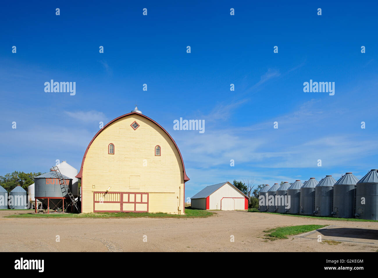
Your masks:
M25 213L25 214L12 214L4 216L7 218L136 218L136 217L151 217L151 218L205 218L215 214L206 210L192 210L191 208L185 208L184 215L167 214L167 213Z

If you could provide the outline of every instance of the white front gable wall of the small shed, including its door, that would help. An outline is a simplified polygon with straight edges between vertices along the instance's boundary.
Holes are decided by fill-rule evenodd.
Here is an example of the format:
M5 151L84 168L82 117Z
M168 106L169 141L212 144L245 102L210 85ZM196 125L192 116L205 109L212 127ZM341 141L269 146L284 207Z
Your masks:
M232 197L234 199L232 199ZM238 191L233 186L226 183L225 185L223 185L221 188L219 188L217 191L215 191L214 193L210 195L209 209L220 210L221 200L222 200L222 210L244 210L245 208L244 199L245 199L245 196L242 193L240 193L240 191ZM206 199L205 199L205 208L206 208Z

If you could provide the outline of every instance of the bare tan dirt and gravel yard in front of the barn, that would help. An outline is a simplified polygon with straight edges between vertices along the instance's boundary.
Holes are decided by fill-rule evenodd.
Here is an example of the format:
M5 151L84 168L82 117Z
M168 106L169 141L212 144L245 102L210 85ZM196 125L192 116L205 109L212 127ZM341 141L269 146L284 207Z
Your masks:
M378 222L348 222L247 211L217 211L194 219L4 218L25 211L0 211L0 252L375 252L374 244L321 244L289 238L265 242L263 230L288 225L342 225L378 229ZM56 242L59 236L60 242ZM234 236L234 242L230 241ZM147 239L147 242L145 242Z

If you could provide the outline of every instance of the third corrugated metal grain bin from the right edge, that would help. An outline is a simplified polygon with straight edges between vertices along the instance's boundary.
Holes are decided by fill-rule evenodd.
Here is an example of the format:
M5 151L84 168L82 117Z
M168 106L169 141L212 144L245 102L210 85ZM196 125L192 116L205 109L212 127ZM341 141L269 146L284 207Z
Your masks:
M315 187L314 214L332 216L333 185L336 180L332 175L326 175Z

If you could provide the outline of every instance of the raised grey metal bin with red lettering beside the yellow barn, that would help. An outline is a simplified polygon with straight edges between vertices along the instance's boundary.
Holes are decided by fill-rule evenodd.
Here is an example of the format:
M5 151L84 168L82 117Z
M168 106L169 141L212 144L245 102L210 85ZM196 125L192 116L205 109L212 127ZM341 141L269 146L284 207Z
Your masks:
M72 179L65 175L62 176L68 183L68 188L70 189L72 195L76 198L78 195L77 183L76 186L73 186ZM50 171L34 178L34 196L43 204L47 205L49 202L50 207L53 207L53 205L59 207L62 204L62 199L50 199L48 201L46 197L65 197L70 199L68 194L65 192L64 186L59 184L59 179L56 177L54 171Z

